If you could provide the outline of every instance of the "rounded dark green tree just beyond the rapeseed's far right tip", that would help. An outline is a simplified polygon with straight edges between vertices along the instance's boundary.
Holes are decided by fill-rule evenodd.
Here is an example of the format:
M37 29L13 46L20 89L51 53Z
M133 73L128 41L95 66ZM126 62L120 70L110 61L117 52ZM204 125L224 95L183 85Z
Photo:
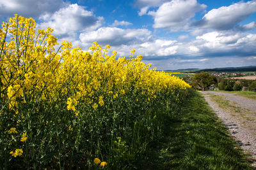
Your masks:
M215 84L215 83L216 83L216 79L214 79L214 76L206 72L195 74L192 81L193 87L195 89L199 87L200 89L202 89L202 91L208 89L212 84Z

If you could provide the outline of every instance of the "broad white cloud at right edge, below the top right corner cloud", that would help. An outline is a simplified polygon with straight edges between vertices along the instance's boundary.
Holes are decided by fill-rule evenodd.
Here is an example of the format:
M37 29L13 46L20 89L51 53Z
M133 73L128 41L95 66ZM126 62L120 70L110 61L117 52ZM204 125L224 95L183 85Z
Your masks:
M256 55L256 34L233 31L214 31L197 36L196 47L208 57Z

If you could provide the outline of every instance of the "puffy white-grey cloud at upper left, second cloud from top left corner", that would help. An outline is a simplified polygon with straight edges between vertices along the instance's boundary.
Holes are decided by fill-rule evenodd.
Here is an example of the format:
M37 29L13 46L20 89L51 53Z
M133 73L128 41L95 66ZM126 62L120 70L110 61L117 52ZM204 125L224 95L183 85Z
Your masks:
M42 22L38 27L46 28L50 25L56 36L76 38L78 32L97 29L102 25L104 18L96 17L92 11L84 10L83 6L69 4L52 15L49 13L41 15L40 20Z

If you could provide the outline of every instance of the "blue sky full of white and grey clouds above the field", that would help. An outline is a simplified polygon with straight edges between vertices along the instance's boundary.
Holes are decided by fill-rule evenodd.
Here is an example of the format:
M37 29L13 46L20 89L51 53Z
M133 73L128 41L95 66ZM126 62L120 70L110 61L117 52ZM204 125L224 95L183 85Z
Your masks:
M256 66L256 0L0 0L0 22L15 13L84 51L135 49L158 70Z

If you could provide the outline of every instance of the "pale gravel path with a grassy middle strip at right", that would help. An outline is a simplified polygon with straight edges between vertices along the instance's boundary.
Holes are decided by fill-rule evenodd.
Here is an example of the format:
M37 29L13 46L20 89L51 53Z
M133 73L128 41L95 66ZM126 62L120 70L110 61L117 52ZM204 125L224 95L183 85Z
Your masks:
M246 154L251 155L252 165L256 167L256 101L224 92L207 91L202 94L239 146ZM235 108L239 108L239 111L229 110L228 107L220 108L218 103L212 101L211 96L220 96Z

